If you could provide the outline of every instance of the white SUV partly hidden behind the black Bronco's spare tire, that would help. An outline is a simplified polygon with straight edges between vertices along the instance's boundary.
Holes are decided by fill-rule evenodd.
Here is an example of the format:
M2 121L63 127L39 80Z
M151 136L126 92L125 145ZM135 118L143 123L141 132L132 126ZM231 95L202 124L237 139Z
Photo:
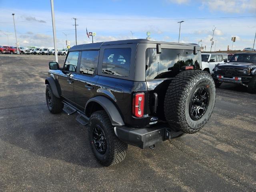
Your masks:
M226 53L202 53L202 70L213 73L216 64L228 62Z

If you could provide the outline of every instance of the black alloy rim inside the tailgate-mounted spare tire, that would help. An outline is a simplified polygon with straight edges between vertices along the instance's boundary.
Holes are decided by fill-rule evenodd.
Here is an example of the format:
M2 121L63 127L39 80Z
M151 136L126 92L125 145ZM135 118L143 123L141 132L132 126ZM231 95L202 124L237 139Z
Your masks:
M192 120L199 120L208 108L209 93L206 87L199 87L190 99L189 115Z

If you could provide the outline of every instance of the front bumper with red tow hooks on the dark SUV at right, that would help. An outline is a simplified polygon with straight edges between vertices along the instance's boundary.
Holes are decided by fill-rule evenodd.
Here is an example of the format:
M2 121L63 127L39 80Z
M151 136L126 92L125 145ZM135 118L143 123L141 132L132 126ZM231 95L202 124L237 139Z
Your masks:
M248 84L251 76L237 76L237 75L223 75L214 73L212 77L220 82L233 83L233 84Z

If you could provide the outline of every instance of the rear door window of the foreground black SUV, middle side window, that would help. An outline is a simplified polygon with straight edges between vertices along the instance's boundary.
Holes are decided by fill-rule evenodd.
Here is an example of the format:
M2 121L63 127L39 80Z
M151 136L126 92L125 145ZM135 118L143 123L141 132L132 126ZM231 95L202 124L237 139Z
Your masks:
M80 74L93 75L98 66L99 51L83 51L80 62Z

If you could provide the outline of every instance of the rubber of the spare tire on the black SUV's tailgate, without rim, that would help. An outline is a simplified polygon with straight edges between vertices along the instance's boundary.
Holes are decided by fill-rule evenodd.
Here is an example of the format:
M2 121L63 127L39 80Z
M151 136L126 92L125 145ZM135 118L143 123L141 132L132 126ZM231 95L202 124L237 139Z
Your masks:
M189 113L192 96L203 87L209 95L208 108L202 117L193 120ZM200 70L180 72L170 83L165 99L164 114L171 128L188 134L198 132L209 120L215 104L215 86L212 76Z

